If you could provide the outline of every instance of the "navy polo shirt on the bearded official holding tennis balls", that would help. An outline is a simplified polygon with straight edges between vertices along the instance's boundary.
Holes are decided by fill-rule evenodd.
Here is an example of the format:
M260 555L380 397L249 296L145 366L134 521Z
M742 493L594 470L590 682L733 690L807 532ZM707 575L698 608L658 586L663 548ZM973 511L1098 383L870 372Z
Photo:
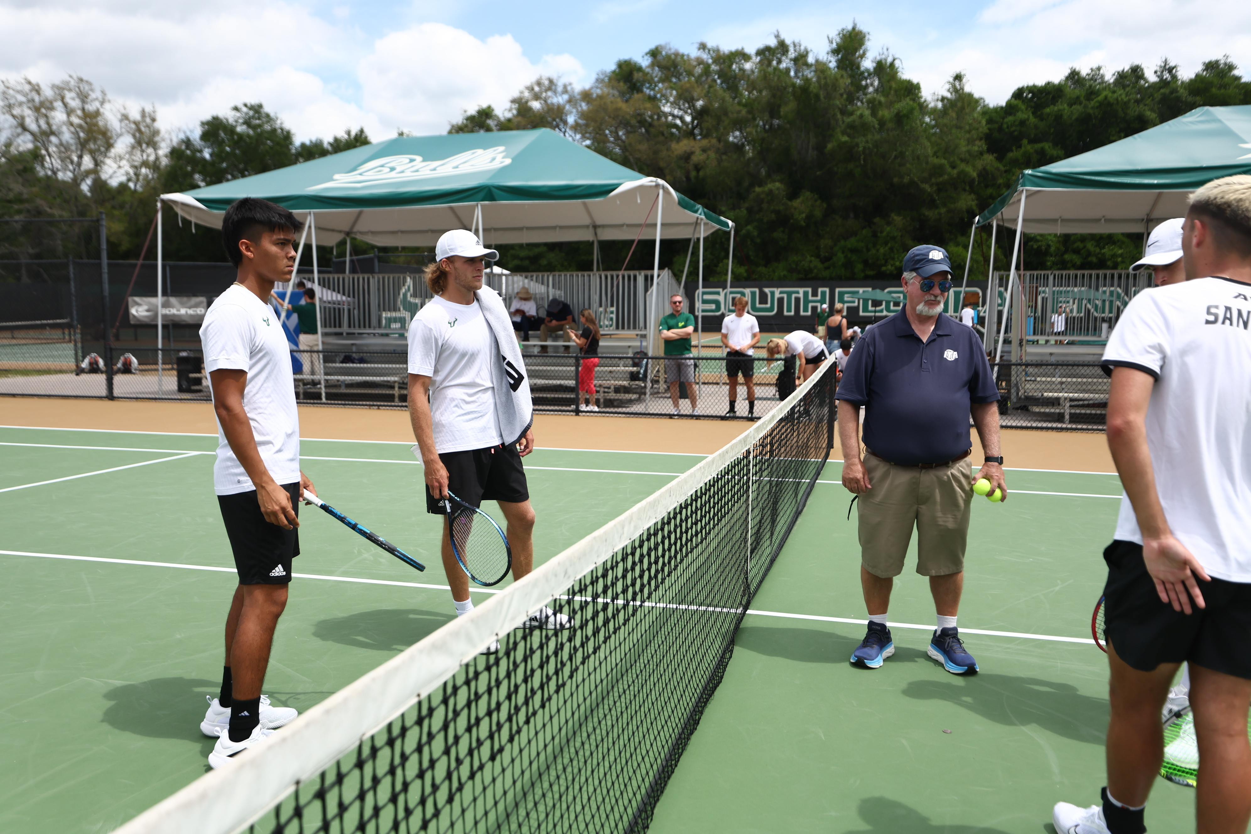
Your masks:
M914 466L968 451L971 405L995 403L1000 391L977 333L938 315L922 341L899 311L857 340L834 396L864 406L873 454Z

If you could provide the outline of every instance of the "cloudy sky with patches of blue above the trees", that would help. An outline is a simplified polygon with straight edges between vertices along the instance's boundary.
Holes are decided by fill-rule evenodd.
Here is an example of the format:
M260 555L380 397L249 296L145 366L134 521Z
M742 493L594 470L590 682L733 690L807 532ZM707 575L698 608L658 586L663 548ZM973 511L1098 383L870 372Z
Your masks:
M852 20L927 93L965 71L992 103L1070 66L1150 70L1167 56L1192 73L1230 55L1251 71L1245 0L0 0L0 78L83 75L155 104L170 131L259 100L299 139L349 126L383 139L443 133L539 74L585 85L659 43L752 49L781 31L824 49Z

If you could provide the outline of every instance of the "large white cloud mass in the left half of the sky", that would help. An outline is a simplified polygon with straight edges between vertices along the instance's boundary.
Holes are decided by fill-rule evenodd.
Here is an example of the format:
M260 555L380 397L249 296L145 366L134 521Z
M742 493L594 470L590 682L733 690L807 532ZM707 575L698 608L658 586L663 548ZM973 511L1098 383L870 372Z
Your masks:
M443 133L463 110L507 105L540 73L583 75L569 55L532 63L510 35L482 41L419 24L367 38L350 11L334 6L323 19L284 0L0 0L0 78L81 75L120 104L155 104L171 133L260 101L303 140L358 126L374 139L397 128Z

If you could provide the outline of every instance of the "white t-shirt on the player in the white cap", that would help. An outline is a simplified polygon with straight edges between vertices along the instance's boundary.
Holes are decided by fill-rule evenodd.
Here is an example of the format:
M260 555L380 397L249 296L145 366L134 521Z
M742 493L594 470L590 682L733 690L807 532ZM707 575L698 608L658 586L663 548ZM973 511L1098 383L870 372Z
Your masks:
M434 448L485 449L504 441L495 410L490 363L499 351L477 301L453 304L435 295L408 325L408 373L432 378Z

